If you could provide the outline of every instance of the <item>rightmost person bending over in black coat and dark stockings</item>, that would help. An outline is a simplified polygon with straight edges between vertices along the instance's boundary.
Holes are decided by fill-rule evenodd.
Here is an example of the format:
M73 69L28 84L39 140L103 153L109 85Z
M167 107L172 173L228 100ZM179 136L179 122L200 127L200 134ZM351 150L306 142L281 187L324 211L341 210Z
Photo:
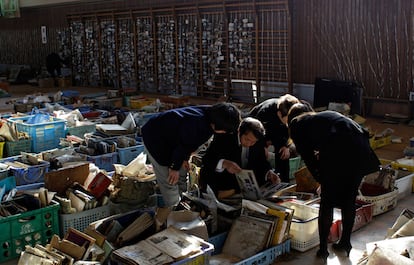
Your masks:
M327 240L334 207L341 209L342 236L332 248L346 251L349 256L359 185L365 175L378 171L380 165L370 147L369 134L338 112L315 113L304 104L292 106L288 122L297 152L320 183L320 248L317 256L324 259L329 256Z

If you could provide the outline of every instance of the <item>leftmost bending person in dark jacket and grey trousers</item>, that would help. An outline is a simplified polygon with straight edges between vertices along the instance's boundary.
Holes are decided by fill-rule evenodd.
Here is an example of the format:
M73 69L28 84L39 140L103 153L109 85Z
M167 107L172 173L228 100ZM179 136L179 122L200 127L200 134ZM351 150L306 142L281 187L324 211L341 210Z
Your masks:
M237 107L216 103L160 112L145 123L142 138L165 203L157 209L157 226L165 223L186 191L190 155L213 133L235 133L240 120Z

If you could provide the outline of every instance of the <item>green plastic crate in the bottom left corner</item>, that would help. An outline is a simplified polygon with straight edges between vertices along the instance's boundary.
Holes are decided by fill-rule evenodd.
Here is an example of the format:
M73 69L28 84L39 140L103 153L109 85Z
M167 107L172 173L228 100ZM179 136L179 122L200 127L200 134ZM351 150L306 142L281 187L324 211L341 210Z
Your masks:
M59 204L0 218L0 263L17 258L26 245L45 245L59 233Z

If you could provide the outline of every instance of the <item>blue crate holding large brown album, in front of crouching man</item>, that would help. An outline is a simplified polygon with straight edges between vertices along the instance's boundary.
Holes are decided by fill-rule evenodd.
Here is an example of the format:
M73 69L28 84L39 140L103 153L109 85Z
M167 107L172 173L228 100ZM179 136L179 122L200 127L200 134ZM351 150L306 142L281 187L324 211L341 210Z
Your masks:
M220 254L224 242L226 241L227 233L221 233L216 236L210 237L209 242L214 245L214 252L212 255ZM234 263L234 265L270 265L273 264L278 256L290 252L290 239L285 242L270 247L262 252L257 253L254 256L251 256L247 259L244 259L240 262Z

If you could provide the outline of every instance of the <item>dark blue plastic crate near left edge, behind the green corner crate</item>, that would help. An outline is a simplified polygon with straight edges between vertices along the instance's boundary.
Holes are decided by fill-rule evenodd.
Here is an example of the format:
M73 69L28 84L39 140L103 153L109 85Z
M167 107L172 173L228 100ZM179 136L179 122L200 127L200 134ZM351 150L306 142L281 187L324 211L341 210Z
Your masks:
M8 162L22 162L21 156L7 157L0 160L0 163L7 164ZM45 173L49 172L50 163L47 161L40 161L38 165L28 165L27 167L9 167L9 175L16 178L16 185L26 185L32 183L44 182Z

